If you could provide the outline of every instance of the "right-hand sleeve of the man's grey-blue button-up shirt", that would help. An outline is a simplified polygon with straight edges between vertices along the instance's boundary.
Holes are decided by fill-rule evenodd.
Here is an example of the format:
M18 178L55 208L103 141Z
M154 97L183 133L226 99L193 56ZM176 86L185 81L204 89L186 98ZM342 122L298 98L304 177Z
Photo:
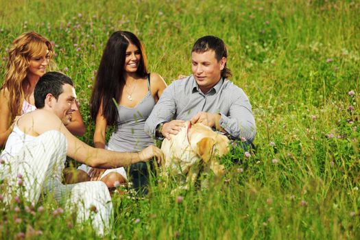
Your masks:
M239 93L237 94L239 96ZM221 113L220 125L233 138L239 139L241 136L248 141L254 141L256 126L254 115L248 97L241 90L241 95L232 102L229 115Z

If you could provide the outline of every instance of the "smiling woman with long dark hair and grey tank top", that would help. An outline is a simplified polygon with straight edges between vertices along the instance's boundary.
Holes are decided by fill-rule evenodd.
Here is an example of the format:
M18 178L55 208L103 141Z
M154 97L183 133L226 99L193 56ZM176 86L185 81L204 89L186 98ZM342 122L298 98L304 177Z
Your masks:
M131 32L113 33L106 43L91 95L95 147L137 152L154 144L145 134L144 124L166 86L163 77L147 72L145 51L139 38ZM115 125L115 132L106 145L108 125ZM101 180L109 188L127 179L123 167L103 170L82 165L78 169L88 174L87 180ZM146 184L147 165L132 165L130 176L136 189L139 184Z

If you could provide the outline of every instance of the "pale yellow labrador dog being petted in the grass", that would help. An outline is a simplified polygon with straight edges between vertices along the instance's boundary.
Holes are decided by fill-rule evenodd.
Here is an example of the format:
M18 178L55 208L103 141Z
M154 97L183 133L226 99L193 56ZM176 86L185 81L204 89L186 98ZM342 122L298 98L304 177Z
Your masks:
M217 159L229 152L229 140L206 125L185 121L178 134L171 135L170 140L164 139L161 150L165 156L165 174L185 175L194 182L202 167L216 176L224 174L224 166Z

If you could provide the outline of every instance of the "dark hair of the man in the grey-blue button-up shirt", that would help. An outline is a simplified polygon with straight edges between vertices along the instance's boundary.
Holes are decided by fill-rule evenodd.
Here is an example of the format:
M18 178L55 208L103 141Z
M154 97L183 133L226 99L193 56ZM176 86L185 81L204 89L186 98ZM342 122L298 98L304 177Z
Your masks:
M217 36L203 36L202 38L197 39L191 52L204 53L209 50L215 51L215 58L218 62L221 58L228 58L228 49L226 48L224 41ZM221 77L226 78L231 75L230 69L228 69L225 64L224 69L221 71Z

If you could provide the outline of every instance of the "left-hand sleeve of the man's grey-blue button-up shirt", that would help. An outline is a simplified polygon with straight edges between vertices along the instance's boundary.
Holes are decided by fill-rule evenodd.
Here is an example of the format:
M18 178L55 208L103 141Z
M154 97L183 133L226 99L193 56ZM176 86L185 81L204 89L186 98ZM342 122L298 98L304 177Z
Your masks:
M145 132L155 138L156 126L159 123L171 121L176 114L175 84L170 84L161 95L158 103L154 106L152 113L145 121Z

